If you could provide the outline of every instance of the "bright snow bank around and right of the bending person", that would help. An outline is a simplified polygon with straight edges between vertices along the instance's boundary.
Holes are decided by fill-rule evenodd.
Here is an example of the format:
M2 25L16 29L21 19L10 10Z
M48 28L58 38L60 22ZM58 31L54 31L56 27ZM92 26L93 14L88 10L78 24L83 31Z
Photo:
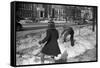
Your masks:
M80 34L78 33L78 30L75 30L74 39L75 45L73 47L71 46L70 41L61 43L61 38L58 40L62 53L60 58L67 54L68 56L66 56L66 59L70 59L72 57L79 56L96 46L96 33L86 27L81 28Z

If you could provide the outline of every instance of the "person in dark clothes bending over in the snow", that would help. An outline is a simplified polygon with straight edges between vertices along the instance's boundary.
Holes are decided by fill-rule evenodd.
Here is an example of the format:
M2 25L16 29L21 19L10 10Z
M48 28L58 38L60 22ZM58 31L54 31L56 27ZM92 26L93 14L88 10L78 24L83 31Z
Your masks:
M72 27L64 25L63 31L61 33L61 37L63 36L63 42L66 42L66 38L68 35L70 35L71 46L74 46L74 30Z

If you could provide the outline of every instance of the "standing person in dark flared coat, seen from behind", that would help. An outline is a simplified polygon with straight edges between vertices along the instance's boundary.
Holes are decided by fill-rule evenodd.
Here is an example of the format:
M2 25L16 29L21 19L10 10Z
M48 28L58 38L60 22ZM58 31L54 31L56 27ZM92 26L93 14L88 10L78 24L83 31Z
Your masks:
M60 49L58 46L58 38L59 38L59 34L58 31L55 28L55 24L52 22L49 22L48 24L48 29L46 30L46 37L41 40L39 43L45 43L44 47L42 48L41 52L42 52L42 57L41 57L41 61L42 63L44 63L44 56L45 55L49 55L51 56L53 59L55 56L58 56L58 54L60 54Z

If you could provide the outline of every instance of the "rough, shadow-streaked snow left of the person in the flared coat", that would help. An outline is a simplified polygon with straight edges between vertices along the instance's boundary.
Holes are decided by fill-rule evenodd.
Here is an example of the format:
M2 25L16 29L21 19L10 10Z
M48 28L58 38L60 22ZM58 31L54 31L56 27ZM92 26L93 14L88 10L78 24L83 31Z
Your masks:
M46 36L46 33L41 32L42 34L37 33L36 35L27 34L25 38L20 37L16 42L16 60L17 65L25 65L25 64L36 64L40 62L36 62L35 57L38 53L40 53L42 49L42 45L38 42Z

